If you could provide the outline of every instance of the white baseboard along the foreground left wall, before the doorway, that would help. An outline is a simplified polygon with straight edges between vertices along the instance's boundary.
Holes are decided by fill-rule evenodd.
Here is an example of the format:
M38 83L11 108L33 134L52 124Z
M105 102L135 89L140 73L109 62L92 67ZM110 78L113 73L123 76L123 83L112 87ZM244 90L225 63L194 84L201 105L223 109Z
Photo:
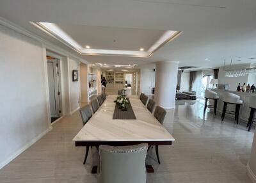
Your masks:
M45 130L44 132L42 132L41 134L39 134L38 136L36 136L35 138L31 139L31 141L29 141L28 143L26 143L26 145L24 145L23 147L21 147L19 150L17 150L15 153L13 153L12 155L10 155L10 157L8 157L7 159L5 159L3 162L0 163L0 169L3 168L4 166L6 166L6 164L10 163L11 161L13 161L13 159L15 159L15 157L17 157L18 155L22 154L22 152L24 152L24 150L26 150L27 148L31 147L31 145L33 145L34 143L36 143L36 141L38 141L40 138L42 138L45 134L47 134L47 132L51 131L52 127L49 127L47 130Z

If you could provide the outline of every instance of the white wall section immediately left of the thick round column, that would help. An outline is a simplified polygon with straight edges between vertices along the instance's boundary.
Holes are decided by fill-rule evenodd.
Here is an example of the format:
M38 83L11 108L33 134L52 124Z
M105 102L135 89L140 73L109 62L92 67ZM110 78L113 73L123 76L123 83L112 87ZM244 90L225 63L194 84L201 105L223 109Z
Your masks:
M140 92L146 95L152 94L152 88L155 87L156 72L153 69L156 64L147 64L140 67Z

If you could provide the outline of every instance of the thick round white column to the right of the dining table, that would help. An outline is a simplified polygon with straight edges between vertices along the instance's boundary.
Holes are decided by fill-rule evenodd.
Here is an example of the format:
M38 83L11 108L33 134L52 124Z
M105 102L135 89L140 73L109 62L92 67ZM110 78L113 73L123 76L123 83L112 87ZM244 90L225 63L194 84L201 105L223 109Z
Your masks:
M159 61L156 63L156 104L165 109L175 107L179 61Z

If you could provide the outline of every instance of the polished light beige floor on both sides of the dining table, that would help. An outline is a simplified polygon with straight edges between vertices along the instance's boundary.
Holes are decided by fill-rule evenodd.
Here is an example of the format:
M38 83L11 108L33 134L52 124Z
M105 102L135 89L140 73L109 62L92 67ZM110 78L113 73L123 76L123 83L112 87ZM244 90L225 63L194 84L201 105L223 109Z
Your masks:
M147 163L156 173L148 173L147 182L250 182L245 172L254 128L247 132L244 123L221 122L203 110L203 100L179 100L168 111L164 126L176 140L159 147L161 164L154 148L148 152ZM54 123L51 132L0 170L0 182L96 182L90 171L99 160L97 150L90 150L84 166L84 148L72 142L81 127L78 112Z

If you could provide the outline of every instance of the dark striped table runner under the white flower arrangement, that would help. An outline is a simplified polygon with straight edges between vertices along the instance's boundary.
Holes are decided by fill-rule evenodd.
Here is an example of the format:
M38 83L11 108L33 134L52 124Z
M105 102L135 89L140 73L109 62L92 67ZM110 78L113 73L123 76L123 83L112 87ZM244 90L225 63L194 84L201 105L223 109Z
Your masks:
M129 98L126 99L129 102L129 104L126 104L127 111L122 111L122 109L119 109L119 104L116 103L113 120L136 120L136 116L132 110L131 102Z

